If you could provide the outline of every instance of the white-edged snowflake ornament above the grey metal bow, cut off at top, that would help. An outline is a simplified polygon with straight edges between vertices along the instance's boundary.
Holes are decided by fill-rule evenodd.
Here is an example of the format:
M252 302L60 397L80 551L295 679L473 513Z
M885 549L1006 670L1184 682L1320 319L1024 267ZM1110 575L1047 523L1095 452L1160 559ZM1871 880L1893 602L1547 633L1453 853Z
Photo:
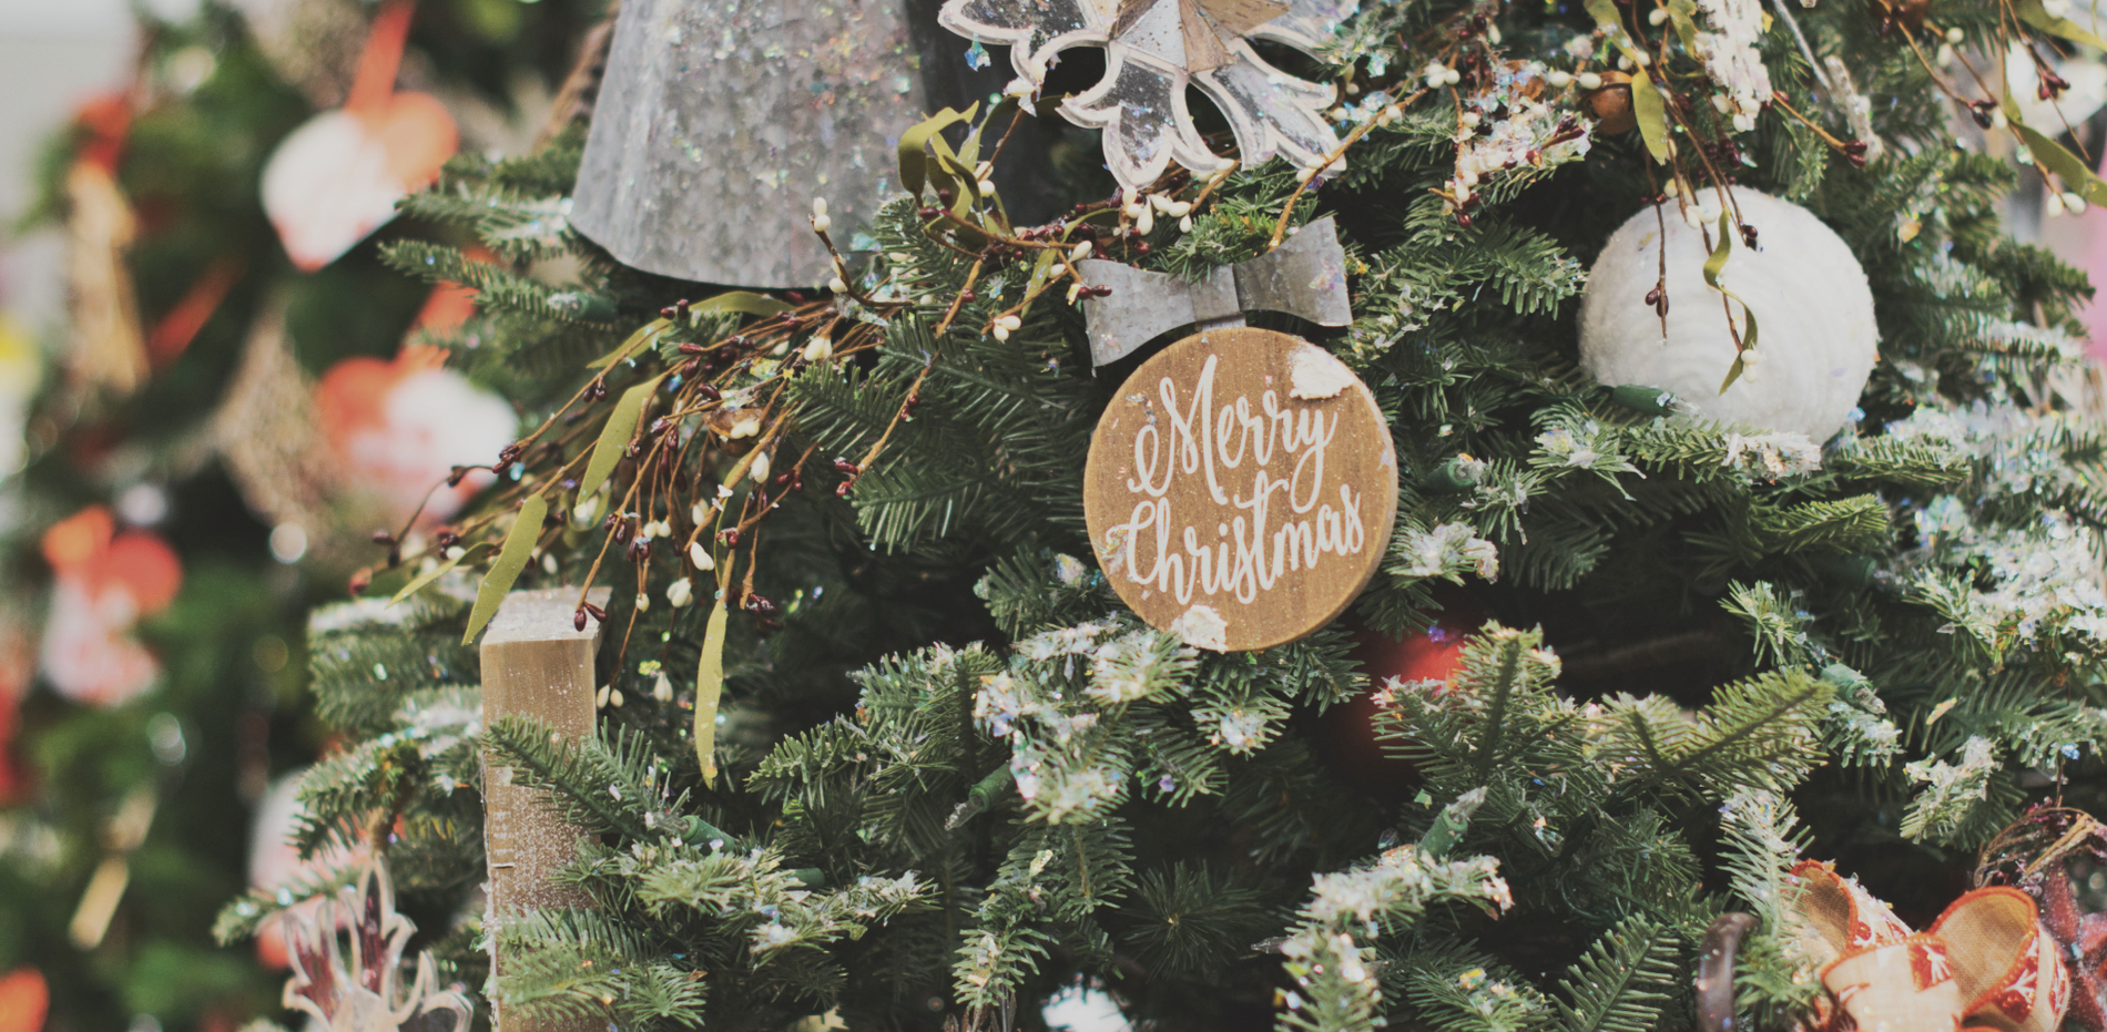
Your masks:
M1140 190L1169 162L1214 173L1218 158L1186 107L1186 86L1214 101L1245 166L1275 154L1317 166L1338 145L1323 112L1332 86L1268 65L1252 40L1317 53L1361 0L948 0L940 21L976 44L1007 44L1032 88L1060 51L1104 46L1104 80L1070 97L1070 122L1104 131L1104 158Z

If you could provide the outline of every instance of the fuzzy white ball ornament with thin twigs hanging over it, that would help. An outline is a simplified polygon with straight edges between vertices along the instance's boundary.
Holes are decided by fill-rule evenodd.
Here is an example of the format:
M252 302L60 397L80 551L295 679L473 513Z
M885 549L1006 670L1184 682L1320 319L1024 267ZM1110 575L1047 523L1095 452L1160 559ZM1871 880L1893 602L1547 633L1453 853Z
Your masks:
M1757 318L1757 345L1740 379L1719 392L1734 366L1734 335L1719 291L1705 282L1711 257L1705 236L1681 219L1673 200L1658 215L1652 209L1633 215L1595 259L1580 303L1580 366L1612 388L1673 392L1694 419L1829 440L1850 419L1879 358L1873 291L1850 246L1814 213L1755 190L1732 190L1759 244L1751 251L1736 234L1719 274ZM1717 236L1717 213L1709 230ZM1662 246L1667 335L1646 299L1660 278ZM1740 324L1742 310L1732 307Z

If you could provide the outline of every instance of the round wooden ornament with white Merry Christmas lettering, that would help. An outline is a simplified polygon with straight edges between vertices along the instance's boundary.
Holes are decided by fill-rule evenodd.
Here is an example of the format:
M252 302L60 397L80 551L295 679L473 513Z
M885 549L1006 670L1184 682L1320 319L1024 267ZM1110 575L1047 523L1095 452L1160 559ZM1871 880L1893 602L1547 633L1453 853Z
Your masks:
M1376 396L1300 337L1186 337L1125 381L1083 474L1098 564L1153 628L1271 649L1338 617L1382 562L1397 453Z

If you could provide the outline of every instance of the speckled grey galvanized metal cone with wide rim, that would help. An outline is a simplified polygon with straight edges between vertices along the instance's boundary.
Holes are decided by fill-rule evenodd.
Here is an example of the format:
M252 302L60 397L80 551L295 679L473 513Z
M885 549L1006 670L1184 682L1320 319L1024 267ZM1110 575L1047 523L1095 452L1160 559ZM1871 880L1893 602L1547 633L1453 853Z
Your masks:
M851 249L900 194L900 133L1003 88L967 46L929 0L624 0L571 225L659 276L826 282L811 198Z

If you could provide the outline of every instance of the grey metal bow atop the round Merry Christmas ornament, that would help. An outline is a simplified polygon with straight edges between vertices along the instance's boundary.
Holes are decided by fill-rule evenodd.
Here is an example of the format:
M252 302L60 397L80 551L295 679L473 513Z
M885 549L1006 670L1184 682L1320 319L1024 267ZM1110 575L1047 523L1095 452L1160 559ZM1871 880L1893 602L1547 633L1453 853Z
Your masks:
M1083 301L1089 358L1100 366L1178 326L1243 326L1245 312L1287 312L1319 326L1353 322L1346 251L1338 246L1332 219L1313 221L1271 253L1197 282L1104 259L1083 259L1077 272L1087 286L1112 291Z

